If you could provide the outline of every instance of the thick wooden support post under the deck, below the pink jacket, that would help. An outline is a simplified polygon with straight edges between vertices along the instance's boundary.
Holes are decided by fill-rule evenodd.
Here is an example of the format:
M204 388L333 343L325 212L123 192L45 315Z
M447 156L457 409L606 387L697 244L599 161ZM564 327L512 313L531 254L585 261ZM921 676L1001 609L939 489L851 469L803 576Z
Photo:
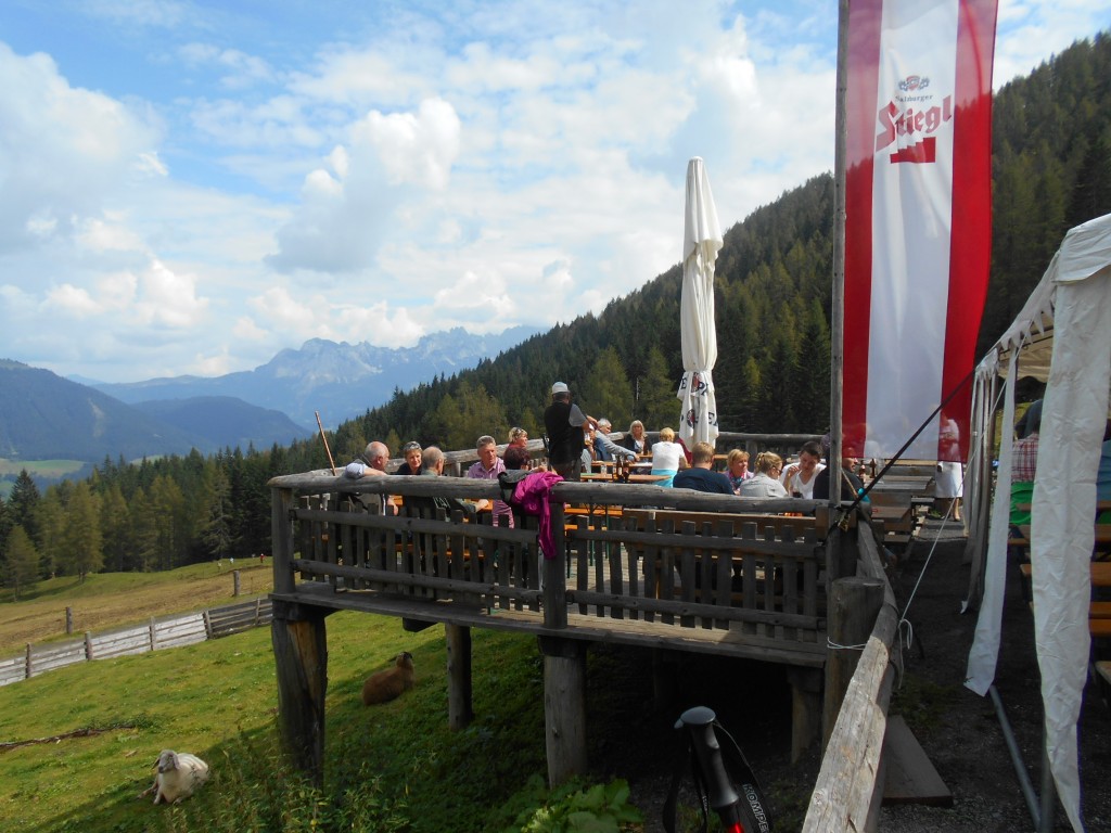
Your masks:
M540 636L548 784L587 772L587 643Z

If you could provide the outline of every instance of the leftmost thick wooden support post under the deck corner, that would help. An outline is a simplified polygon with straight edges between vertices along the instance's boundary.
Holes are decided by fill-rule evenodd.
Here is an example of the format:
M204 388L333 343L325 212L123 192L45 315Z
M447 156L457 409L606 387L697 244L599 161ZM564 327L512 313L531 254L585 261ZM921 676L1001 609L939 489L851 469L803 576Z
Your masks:
M278 675L278 729L293 766L318 786L324 775L328 611L274 604L270 636ZM294 618L294 615L299 618Z

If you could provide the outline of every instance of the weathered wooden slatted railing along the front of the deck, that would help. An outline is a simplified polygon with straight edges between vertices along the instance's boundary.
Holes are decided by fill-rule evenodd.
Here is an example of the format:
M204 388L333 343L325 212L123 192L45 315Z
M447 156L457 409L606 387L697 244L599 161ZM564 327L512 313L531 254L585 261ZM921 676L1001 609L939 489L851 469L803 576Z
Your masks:
M467 523L458 511L412 508L436 496L494 499L489 481L300 474L271 486L276 598L424 621L511 612L520 615L482 624L582 639L625 622L629 642L712 642L734 655L823 662L825 530L812 515L777 530L754 514L824 512L812 501L561 482L550 503L554 551L541 559L536 518L518 515L510 529L489 515ZM368 498L383 493L402 495L408 509L383 514L380 499ZM682 521L678 511L705 514Z

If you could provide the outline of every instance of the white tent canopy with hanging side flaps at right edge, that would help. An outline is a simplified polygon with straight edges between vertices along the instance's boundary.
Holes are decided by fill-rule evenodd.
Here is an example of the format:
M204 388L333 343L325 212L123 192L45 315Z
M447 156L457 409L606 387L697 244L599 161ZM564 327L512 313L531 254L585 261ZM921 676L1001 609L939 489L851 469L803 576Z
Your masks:
M1088 675L1095 475L1111 383L1111 214L1070 230L1014 323L977 368L969 483L970 601L982 602L965 685L983 695L999 653L1010 512L1014 382L1047 382L1031 510L1034 633L1045 747L1058 795L1081 831L1077 719ZM1004 378L998 488L991 425ZM990 510L989 510L990 506ZM985 559L983 542L987 540Z

